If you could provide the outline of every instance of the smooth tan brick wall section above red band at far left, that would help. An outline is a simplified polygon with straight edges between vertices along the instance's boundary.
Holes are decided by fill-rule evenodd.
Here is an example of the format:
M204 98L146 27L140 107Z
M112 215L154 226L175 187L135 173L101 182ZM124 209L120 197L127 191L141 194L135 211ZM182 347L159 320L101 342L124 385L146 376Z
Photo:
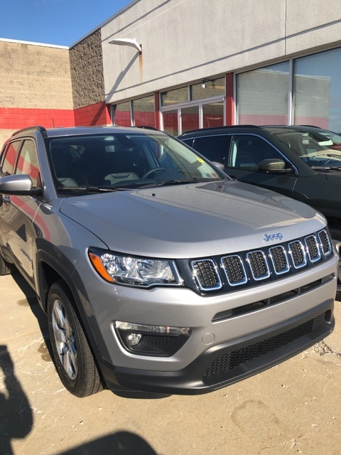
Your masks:
M0 107L72 109L69 50L0 41Z

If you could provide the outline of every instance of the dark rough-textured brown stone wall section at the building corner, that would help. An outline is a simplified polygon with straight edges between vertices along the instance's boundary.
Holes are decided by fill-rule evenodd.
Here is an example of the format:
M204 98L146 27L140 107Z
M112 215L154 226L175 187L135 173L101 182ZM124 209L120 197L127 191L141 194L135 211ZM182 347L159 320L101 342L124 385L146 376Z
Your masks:
M74 108L104 102L100 29L70 48L70 67Z

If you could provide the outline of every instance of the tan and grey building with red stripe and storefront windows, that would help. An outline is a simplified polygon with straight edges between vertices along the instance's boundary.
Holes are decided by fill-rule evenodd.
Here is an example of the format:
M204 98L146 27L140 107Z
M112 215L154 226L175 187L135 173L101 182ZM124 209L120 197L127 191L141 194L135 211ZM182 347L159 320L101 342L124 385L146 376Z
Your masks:
M0 39L0 143L30 124L341 131L340 78L340 0L134 0L70 48Z

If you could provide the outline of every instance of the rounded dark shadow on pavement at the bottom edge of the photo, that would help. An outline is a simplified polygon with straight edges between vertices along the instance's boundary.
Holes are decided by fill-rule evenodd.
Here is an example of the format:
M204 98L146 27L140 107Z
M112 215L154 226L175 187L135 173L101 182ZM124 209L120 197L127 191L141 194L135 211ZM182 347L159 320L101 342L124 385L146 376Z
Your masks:
M117 432L87 442L58 455L157 455L151 446L137 434Z

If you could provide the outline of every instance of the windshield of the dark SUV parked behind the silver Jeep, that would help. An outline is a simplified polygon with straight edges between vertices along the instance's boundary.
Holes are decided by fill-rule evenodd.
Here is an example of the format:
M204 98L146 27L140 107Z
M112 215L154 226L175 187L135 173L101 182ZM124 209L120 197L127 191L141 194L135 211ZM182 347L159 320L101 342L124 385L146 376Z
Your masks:
M311 168L340 168L341 151L331 149L332 141L310 132L271 131Z

